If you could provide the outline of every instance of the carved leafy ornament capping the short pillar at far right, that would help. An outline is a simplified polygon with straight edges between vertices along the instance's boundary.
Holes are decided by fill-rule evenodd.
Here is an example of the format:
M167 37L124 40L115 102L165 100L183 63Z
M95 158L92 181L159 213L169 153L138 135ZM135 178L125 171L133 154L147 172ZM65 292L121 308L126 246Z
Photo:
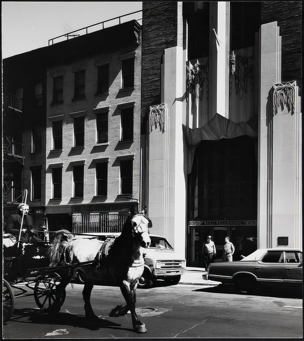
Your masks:
M279 108L286 108L291 115L294 114L295 81L275 84L273 86L273 116Z

